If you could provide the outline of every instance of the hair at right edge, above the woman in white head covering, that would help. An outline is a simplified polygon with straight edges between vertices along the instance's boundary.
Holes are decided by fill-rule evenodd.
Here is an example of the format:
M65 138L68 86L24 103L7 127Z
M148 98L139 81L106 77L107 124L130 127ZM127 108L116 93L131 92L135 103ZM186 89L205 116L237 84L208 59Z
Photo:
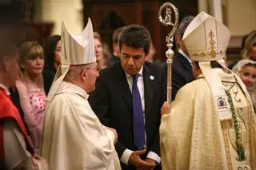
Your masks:
M250 59L250 49L256 42L256 30L253 30L246 36L244 46L241 51L242 59Z

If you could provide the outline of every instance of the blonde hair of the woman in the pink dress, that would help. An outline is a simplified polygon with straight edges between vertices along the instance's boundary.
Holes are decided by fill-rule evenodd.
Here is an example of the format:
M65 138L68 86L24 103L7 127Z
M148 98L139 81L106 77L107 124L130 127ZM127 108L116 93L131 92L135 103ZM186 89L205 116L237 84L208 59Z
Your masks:
M20 54L20 59L19 59L19 65L21 66L21 71L19 73L19 78L22 82L27 83L30 80L30 77L24 73L24 67L23 65L26 63L26 60L28 57L31 55L42 55L44 56L44 51L42 49L42 46L38 44L38 42L23 42L22 45L19 47L19 54ZM43 88L43 77L42 73L38 75L35 79L36 84L38 85L39 88Z

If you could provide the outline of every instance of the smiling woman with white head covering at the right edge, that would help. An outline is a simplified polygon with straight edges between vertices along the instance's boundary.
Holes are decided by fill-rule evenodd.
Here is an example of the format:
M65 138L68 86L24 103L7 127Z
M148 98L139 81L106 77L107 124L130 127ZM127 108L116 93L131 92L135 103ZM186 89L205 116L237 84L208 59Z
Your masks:
M246 85L246 89L250 93L251 100L253 101L254 110L256 109L256 61L243 59L238 61L232 69Z

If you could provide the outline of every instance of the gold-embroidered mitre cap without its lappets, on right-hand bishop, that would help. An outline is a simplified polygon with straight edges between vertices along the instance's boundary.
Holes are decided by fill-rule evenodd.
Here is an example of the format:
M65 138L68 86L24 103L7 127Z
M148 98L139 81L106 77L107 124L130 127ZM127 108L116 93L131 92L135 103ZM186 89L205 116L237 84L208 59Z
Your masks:
M186 50L193 61L216 61L226 56L230 30L215 18L201 12L183 35Z

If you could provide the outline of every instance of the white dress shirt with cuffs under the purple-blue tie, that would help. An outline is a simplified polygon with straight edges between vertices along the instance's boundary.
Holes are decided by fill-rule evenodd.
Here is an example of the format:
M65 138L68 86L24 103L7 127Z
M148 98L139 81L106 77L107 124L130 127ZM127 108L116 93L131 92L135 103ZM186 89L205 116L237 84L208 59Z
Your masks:
M143 111L144 125L145 125L145 95L144 95L144 81L143 81L142 71L143 71L143 65L142 65L142 68L138 71L138 74L140 76L138 77L137 85L138 85L138 91L139 91L139 94L140 94L141 100L142 100L142 111ZM132 87L133 87L133 77L126 73L126 80L128 82L130 92L131 92ZM146 128L145 128L144 132L145 132L145 140L146 140ZM146 148L146 144L145 144L145 148ZM129 164L128 160L129 160L132 152L134 152L134 151L126 148L126 150L122 153L122 156L120 158L122 163ZM158 164L160 163L160 160L161 160L160 157L158 156L158 154L156 154L155 152L152 152L152 151L150 151L146 157L157 161Z

